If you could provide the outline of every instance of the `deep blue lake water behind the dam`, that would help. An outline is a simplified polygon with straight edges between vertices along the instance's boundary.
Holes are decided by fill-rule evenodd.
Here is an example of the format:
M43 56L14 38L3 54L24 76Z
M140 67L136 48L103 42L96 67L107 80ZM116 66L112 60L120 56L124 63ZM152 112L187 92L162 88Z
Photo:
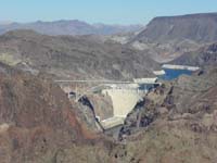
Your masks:
M164 80L173 80L178 78L180 75L192 75L192 71L188 70L170 70L170 68L164 68L165 75L158 76L158 78Z

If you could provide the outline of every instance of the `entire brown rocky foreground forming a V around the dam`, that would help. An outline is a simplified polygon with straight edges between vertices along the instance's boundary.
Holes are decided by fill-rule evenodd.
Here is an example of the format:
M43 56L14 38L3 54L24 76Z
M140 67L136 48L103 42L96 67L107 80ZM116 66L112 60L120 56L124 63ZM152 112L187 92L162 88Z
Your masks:
M2 163L216 162L217 71L181 76L150 92L120 129L119 140L87 129L59 86L0 66Z

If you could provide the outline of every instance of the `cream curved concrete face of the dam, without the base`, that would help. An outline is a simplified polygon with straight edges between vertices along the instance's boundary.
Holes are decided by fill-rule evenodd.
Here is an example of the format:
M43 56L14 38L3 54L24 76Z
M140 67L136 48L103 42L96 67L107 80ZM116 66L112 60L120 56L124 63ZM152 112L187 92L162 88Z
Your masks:
M103 93L112 98L114 116L126 117L137 102L142 99L143 91L137 89L105 89Z

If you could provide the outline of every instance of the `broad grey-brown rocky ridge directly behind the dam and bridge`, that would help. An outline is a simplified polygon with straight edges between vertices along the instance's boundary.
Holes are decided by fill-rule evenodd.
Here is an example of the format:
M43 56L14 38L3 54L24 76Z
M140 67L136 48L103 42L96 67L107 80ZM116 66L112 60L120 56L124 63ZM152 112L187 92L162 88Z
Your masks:
M126 46L89 37L47 36L33 30L0 36L0 60L63 78L129 79L151 75L158 64Z

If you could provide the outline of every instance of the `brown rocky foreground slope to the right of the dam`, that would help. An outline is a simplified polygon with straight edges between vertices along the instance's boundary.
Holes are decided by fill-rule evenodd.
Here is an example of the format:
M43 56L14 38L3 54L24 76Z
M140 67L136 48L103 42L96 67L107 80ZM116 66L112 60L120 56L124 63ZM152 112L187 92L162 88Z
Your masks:
M126 146L117 158L144 163L216 162L216 79L214 68L151 92L120 129Z

